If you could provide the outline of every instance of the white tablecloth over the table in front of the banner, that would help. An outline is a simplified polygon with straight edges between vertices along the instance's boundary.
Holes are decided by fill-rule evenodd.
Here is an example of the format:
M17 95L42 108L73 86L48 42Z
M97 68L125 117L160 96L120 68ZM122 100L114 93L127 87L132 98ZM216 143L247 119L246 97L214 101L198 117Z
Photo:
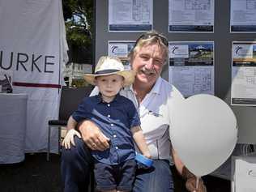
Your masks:
M0 164L25 158L27 100L26 94L0 93Z

